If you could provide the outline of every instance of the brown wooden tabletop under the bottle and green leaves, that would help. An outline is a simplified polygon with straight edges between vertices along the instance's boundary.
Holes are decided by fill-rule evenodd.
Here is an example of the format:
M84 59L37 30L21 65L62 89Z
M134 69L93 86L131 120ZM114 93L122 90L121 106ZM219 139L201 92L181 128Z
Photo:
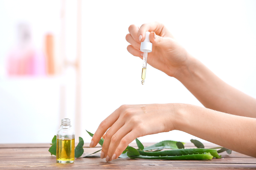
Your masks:
M135 147L136 144L132 143ZM149 146L151 143L144 143ZM84 155L99 150L89 148L89 144L84 144ZM216 147L215 144L205 144L205 147ZM50 144L0 144L0 170L52 170L52 169L254 169L256 168L256 158L232 152L228 155L222 153L222 159L212 159L204 161L169 161L169 160L142 160L142 159L116 159L105 162L100 159L100 153L96 153L89 158L75 159L74 164L57 164L56 156L51 156L48 152ZM186 148L194 147L191 143L185 144Z

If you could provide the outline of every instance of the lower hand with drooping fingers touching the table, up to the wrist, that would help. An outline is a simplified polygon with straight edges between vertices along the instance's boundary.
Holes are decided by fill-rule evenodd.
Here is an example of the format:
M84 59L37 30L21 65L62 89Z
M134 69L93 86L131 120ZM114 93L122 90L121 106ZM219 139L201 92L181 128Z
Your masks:
M105 134L101 159L117 159L134 139L174 130L175 107L172 104L122 105L101 122L90 147Z

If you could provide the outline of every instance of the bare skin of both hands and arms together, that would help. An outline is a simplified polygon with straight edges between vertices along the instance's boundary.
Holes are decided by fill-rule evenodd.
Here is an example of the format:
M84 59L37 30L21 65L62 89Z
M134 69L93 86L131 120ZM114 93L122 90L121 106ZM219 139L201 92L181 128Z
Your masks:
M146 31L151 32L153 47L148 64L178 79L205 108L179 103L122 105L102 121L90 143L95 147L105 134L102 159L117 159L137 137L171 130L256 157L256 99L218 78L192 57L163 24L131 25L128 30L126 40L131 45L127 50L141 59L140 42Z

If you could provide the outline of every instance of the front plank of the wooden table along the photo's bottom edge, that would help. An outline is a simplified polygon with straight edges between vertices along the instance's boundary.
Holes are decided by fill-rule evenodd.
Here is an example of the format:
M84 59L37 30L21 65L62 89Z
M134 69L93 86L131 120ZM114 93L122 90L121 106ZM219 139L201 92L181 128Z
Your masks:
M5 169L166 169L166 168L256 168L256 164L236 164L236 163L193 163L166 160L134 160L116 159L105 162L100 158L79 158L74 164L57 164L54 158L47 159L22 159L6 161L0 160L0 170ZM209 161L208 161L209 162Z

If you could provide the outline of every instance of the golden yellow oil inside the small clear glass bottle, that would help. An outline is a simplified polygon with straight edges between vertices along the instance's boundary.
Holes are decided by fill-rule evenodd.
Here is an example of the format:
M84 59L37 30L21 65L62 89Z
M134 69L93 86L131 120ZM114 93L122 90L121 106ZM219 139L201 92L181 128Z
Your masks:
M68 164L75 160L75 139L57 139L56 160L58 163Z

